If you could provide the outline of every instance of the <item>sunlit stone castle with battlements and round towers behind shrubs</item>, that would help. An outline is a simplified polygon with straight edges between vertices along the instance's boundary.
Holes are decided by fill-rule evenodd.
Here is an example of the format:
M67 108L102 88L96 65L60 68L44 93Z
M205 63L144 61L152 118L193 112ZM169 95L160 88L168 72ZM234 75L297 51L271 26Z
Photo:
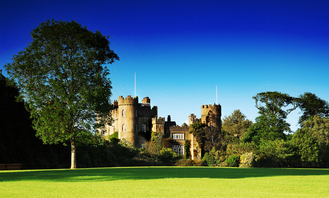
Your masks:
M178 126L171 121L170 115L165 118L157 117L157 107L151 108L151 100L145 97L141 103L138 103L138 97L134 98L128 95L126 98L119 96L118 100L113 102L113 110L111 111L114 123L106 126L107 131L103 135L111 135L118 132L119 139L126 139L135 144L136 147L143 147L147 141L143 132L159 132L165 137L171 137L175 140L173 150L179 155L184 155L185 140L191 143L190 151L192 159L200 159L201 148L197 143L193 134L189 133L190 126L196 122L206 122L206 116L212 111L220 119L221 106L214 104L201 106L201 118L197 119L194 114L189 116L188 126Z

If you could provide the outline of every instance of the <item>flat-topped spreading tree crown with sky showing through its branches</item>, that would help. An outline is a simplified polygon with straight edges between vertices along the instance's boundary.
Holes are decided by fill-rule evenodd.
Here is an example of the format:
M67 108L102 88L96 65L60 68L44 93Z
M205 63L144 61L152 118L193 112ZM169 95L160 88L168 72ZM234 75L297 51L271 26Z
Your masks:
M260 115L275 115L278 119L286 119L287 115L297 108L297 101L294 97L278 91L257 93L252 98L255 99L256 108L259 109ZM265 103L265 106L262 106L262 103ZM282 109L290 105L292 108Z

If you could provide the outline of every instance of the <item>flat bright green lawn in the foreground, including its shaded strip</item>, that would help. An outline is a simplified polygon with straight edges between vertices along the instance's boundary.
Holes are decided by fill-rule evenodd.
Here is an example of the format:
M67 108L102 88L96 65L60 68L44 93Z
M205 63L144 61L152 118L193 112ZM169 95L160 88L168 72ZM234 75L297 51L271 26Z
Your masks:
M125 167L0 172L0 198L329 198L328 169Z

